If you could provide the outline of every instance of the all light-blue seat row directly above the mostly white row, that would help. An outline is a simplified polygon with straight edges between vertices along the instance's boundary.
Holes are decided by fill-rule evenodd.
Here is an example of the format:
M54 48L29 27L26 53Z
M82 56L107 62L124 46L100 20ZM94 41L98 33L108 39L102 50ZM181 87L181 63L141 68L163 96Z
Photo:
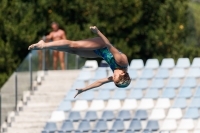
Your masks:
M126 90L116 89L114 94L112 94L110 90L102 89L99 91L90 90L87 93L83 93L78 98L74 98L76 94L75 90L70 91L65 96L64 100L68 101L76 101L76 100L108 100L108 99L119 99L124 100L127 98L130 99L137 99L140 100L142 98L151 98L151 99L158 99L158 98L192 98L192 97L200 97L200 87L197 90L194 90L189 87L183 87L178 90L175 88L165 88L162 92L155 88L149 88L146 93L144 94L141 89L132 89L128 94ZM194 92L194 93L193 93ZM97 95L97 97L96 97Z

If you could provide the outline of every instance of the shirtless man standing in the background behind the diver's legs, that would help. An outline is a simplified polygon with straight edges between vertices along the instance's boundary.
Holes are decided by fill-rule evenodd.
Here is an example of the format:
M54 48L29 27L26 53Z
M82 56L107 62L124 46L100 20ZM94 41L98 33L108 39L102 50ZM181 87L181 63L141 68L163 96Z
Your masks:
M53 29L53 31L49 35L46 36L46 41L50 41L50 40L57 41L57 40L67 39L65 32L59 29L58 23L53 22L51 24L51 28ZM54 70L57 69L58 57L60 59L60 67L62 70L64 70L65 69L65 63L64 63L65 53L59 52L56 50L53 51L53 68Z

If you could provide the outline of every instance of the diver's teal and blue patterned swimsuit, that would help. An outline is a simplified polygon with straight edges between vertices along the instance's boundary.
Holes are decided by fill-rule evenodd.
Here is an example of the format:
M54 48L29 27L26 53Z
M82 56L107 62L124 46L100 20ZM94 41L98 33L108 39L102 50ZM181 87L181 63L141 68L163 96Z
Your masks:
M120 65L118 65L118 64L116 63L114 56L113 56L112 53L108 50L107 47L94 50L94 52L95 52L97 55L101 56L101 57L110 65L110 68L112 69L113 72L114 72L114 70L115 70L116 68L122 68L122 69L127 68L127 66L120 66ZM121 52L120 52L120 53L121 53Z

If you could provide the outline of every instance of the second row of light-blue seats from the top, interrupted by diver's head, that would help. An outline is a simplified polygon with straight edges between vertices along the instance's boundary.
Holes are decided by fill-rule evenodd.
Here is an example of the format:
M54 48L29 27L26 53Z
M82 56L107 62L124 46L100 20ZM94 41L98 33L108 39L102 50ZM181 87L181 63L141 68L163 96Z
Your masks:
M166 68L161 68L158 70L158 72L154 72L153 69L144 69L139 76L137 74L137 70L130 69L128 70L129 75L132 80L135 80L137 78L140 79L152 79L152 78L158 78L158 79L166 79L166 78L184 78L184 77L194 77L199 78L200 77L200 68L190 68L189 72L186 74L186 70L183 68L174 68L172 71L172 74L170 75L170 71ZM95 72L94 77L91 76L90 71L81 71L78 80L98 80L102 79L108 76L111 76L113 72L110 70L107 74L106 68L97 69ZM155 76L155 77L154 77Z

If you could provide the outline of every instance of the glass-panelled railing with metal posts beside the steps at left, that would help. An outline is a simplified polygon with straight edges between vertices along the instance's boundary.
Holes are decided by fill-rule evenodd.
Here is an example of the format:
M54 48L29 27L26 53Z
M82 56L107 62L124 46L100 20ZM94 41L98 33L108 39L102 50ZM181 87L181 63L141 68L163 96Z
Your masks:
M58 58L59 60L59 58ZM85 59L77 55L65 53L65 69L79 69ZM8 121L11 111L18 111L18 103L23 99L23 93L33 91L33 81L37 71L53 70L53 51L31 51L1 88L0 93L0 125ZM60 70L58 61L58 70Z

